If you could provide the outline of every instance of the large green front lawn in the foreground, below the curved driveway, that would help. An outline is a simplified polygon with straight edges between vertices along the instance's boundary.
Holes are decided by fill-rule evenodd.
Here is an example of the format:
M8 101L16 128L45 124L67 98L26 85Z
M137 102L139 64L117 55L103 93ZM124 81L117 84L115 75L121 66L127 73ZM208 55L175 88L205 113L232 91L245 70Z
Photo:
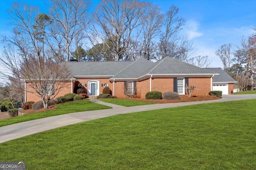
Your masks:
M256 169L256 100L115 115L0 144L27 169Z

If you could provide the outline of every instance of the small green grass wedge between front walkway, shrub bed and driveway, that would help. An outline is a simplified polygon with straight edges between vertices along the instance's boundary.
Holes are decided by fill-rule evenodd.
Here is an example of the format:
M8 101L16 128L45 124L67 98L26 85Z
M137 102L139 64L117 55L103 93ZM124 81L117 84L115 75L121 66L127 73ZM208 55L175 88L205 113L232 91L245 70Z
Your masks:
M106 102L106 103L120 105L120 106L125 106L125 107L156 104L156 103L152 103L152 102L140 102L140 101L128 100L128 99L101 99L101 101Z

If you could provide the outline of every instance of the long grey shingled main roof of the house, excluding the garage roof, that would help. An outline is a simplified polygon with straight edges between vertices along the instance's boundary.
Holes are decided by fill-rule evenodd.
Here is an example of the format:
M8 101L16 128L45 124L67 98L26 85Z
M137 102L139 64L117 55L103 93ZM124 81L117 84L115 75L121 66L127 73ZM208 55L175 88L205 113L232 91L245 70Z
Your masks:
M171 57L153 63L146 59L136 61L92 61L64 63L74 78L108 77L111 80L139 79L150 75L216 75L214 70L200 68Z

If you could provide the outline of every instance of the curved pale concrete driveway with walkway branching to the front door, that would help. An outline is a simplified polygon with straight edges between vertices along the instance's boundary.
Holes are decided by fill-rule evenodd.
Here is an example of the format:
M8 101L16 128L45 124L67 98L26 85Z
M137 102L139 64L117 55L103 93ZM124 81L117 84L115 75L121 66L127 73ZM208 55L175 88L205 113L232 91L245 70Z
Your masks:
M25 121L22 123L16 123L13 125L0 127L0 143L17 139L20 137L24 137L27 135L32 135L42 131L55 129L58 127L72 125L75 123L80 123L80 122L89 121L93 119L99 119L102 117L108 117L112 115L163 109L163 108L169 108L169 107L188 106L188 105L214 103L214 102L226 102L226 101L233 101L233 100L246 100L246 99L256 99L256 94L223 95L222 99L220 100L208 100L208 101L200 101L200 102L182 102L182 103L170 103L170 104L152 104L152 105L134 106L134 107L124 107L124 106L118 106L115 104L105 103L100 100L92 100L92 102L110 106L112 107L112 109L68 113L64 115L45 117L42 119Z

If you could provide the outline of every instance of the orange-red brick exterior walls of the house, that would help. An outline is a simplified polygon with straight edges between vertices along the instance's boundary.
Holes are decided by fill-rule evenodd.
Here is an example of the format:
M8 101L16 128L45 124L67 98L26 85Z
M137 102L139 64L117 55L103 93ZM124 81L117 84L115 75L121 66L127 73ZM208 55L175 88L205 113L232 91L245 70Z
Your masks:
M73 84L73 92L76 93L76 90L78 89L78 84L83 84L83 89L85 93L87 93L88 90L88 81L90 80L98 80L99 81L99 94L102 93L102 90L104 86L101 86L101 84L108 83L108 87L110 90L112 90L112 95L114 95L114 83L110 82L108 78L99 78L99 79L93 79L93 78L80 78L77 79L76 82L72 82ZM173 78L152 78L152 91L160 91L162 93L172 91L173 92ZM188 80L189 85L196 86L195 91L193 92L193 96L204 96L208 94L211 90L211 78L189 78ZM85 86L86 84L86 86ZM233 90L233 84L230 83L228 86L228 93L231 94L231 90ZM27 89L31 90L28 83L27 83ZM67 83L67 86L63 88L55 98L59 96L64 96L66 93L71 93L71 82ZM146 93L150 91L150 78L147 78L142 81L136 82L136 91L138 98L145 98ZM118 98L124 98L124 82L115 82L115 96ZM40 98L35 93L27 93L26 94L26 101L40 101Z

